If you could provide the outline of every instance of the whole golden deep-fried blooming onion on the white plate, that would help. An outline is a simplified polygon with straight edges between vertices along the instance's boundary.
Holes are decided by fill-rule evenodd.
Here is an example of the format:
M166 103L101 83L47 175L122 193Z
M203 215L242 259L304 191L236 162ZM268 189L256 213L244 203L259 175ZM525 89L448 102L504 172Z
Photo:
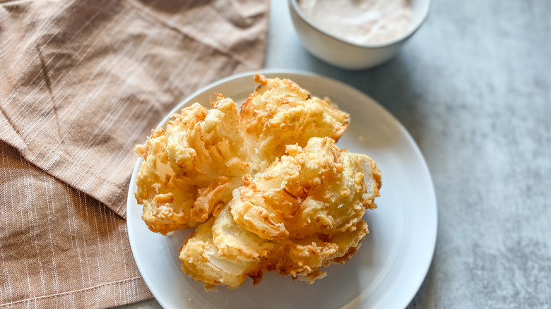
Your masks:
M375 162L335 145L349 115L290 80L254 80L240 111L216 95L135 148L143 221L161 234L196 226L179 258L206 289L271 271L312 284L357 252L377 207Z

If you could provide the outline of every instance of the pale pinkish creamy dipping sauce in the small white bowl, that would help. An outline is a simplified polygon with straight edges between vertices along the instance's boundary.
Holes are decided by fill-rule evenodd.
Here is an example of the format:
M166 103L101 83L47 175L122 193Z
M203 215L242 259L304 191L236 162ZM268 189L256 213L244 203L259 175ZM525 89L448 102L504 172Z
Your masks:
M321 30L356 44L401 37L411 24L410 0L298 0L304 16Z

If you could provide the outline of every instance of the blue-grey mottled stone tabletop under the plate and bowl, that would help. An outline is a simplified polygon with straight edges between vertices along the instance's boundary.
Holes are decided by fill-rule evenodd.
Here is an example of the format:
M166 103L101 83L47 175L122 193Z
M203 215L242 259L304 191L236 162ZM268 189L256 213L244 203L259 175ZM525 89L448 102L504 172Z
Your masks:
M433 0L396 59L359 72L310 56L286 1L271 16L268 68L363 90L427 159L438 241L409 308L551 308L551 1Z

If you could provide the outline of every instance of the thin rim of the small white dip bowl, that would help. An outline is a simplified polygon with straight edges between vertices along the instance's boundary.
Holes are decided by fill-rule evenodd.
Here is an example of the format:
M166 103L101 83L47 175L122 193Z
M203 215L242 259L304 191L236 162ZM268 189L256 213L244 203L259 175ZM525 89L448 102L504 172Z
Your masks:
M425 20L429 15L431 0L426 0L426 1L427 1L427 8L425 9L425 11L422 12L422 16L416 25L413 25L413 27L410 28L408 32L405 32L405 34L401 35L400 37L396 37L387 42L378 43L378 44L358 44L347 40L343 40L340 37L337 37L336 35L332 35L331 33L326 32L326 30L322 30L317 25L314 25L314 23L312 23L306 16L304 16L304 14L302 13L302 10L298 6L297 0L289 0L288 2L290 3L290 6L292 6L292 10L295 11L295 13L297 13L297 15L300 16L302 20L304 20L304 23L307 23L310 27L314 28L314 30L317 30L322 35L326 35L327 37L330 37L333 40L337 40L338 42L350 45L352 47L379 49L379 48L384 48L384 47L389 47L391 45L399 44L400 42L408 40L409 37L411 37L415 32L417 32L417 30L421 27L421 25L425 23Z

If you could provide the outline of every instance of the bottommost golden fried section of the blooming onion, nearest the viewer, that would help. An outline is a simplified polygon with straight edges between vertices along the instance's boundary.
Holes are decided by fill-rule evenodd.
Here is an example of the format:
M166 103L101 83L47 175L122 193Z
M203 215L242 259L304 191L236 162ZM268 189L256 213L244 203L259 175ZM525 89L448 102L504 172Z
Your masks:
M270 271L312 284L325 277L320 267L346 262L368 233L360 221L352 231L333 236L266 240L236 224L229 207L212 220L197 227L180 251L184 272L203 281L206 289L216 284L235 288L247 277L258 284L263 272Z

